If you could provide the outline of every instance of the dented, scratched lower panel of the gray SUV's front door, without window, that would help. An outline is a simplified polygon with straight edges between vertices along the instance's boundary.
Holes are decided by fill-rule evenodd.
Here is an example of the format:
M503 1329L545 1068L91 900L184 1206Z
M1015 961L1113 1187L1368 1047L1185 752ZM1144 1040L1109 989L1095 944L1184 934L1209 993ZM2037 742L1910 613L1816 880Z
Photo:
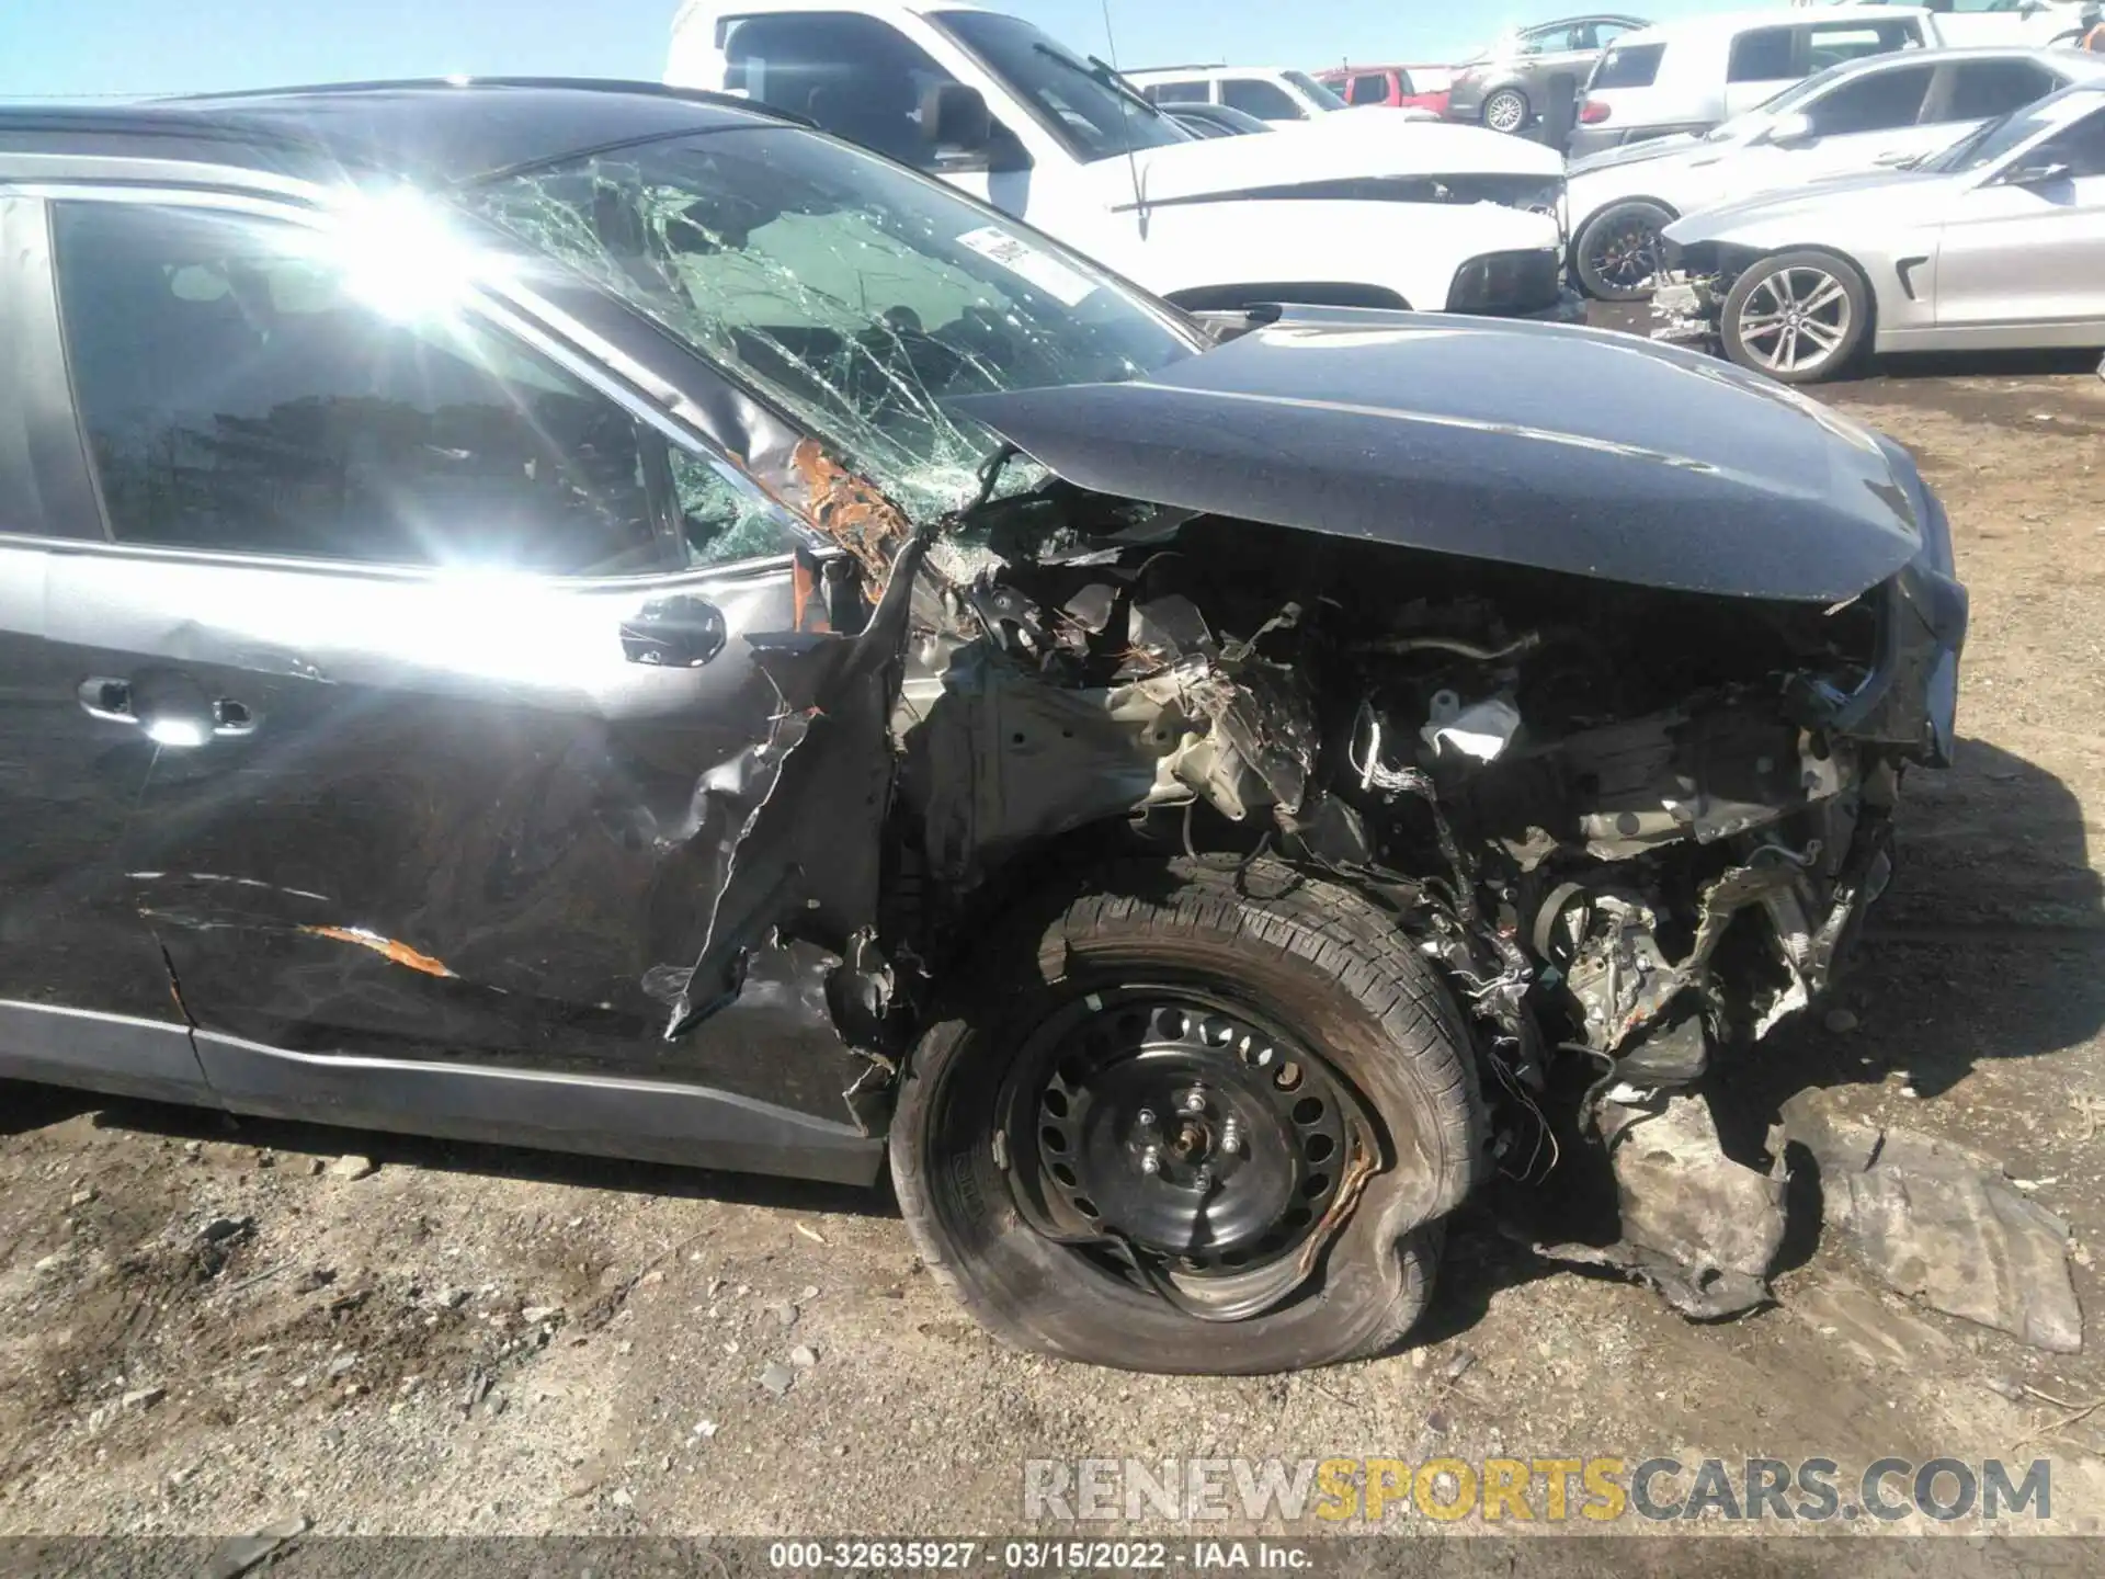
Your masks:
M103 632L76 632L99 672L171 676L219 720L158 752L120 861L208 1065L223 1036L693 1080L844 1116L817 956L770 956L764 990L676 1044L644 990L699 954L749 815L777 693L745 638L794 623L787 568L602 585L145 558L61 573L57 602ZM720 621L701 615L690 655L716 653L697 667L634 659L644 611L667 604Z

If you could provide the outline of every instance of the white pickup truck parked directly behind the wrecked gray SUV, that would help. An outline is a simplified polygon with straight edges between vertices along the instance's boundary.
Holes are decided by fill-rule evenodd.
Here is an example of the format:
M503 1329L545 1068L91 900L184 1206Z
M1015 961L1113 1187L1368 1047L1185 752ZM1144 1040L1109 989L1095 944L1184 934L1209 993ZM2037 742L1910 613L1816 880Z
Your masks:
M1109 65L954 0L686 0L665 80L928 171L1189 309L1575 318L1564 160L1474 126L1198 139Z

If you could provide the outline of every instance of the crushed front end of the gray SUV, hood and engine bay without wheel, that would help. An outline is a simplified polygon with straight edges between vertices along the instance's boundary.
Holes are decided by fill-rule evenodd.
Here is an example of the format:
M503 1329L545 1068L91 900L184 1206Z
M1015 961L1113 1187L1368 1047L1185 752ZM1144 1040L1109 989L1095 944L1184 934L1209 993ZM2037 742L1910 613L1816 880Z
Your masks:
M1476 381L1482 331L1215 331L1147 377L949 402L991 448L939 516L798 446L791 499L844 549L804 571L829 636L756 640L783 724L735 775L703 954L659 973L667 1034L817 943L878 1133L945 983L1048 878L1284 863L1465 1013L1488 1139L1461 1194L1541 1183L1564 1135L1606 1154L1621 1240L1543 1255L1697 1318L1764 1301L1781 1150L1707 1076L1827 992L1903 766L1947 760L1943 512L1890 442L1701 358L1543 333L1535 358L1627 385L1572 417L1556 381ZM1120 1166L1154 1177L1154 1135Z

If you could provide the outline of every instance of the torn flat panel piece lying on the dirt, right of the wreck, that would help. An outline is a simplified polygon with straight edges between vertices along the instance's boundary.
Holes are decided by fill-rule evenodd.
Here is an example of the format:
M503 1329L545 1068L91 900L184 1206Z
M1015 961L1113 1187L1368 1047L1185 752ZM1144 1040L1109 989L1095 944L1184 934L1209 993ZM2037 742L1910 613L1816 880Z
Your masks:
M1838 1118L1821 1093L1783 1105L1821 1168L1821 1215L1899 1293L2054 1354L2080 1354L2069 1225L1993 1158L1905 1128Z

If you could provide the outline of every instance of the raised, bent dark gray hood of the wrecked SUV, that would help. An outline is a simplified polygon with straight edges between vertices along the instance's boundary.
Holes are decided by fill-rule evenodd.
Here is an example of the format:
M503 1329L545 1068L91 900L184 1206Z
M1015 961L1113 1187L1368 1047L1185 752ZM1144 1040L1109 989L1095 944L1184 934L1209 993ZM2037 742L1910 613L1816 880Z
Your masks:
M1633 585L1840 602L1924 545L1905 455L1627 335L1295 309L1149 379L954 404L1097 493Z

